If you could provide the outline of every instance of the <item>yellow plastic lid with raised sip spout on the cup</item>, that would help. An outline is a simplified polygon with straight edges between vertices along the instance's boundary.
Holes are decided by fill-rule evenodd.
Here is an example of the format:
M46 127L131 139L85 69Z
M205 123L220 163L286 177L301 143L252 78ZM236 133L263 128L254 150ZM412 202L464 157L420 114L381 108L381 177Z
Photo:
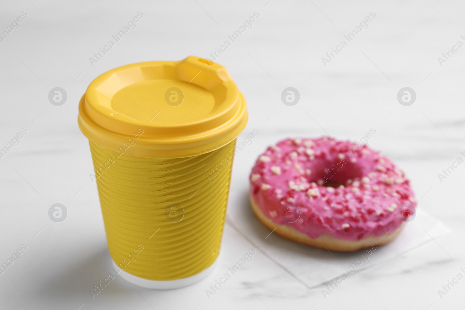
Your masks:
M227 69L189 56L103 73L80 100L78 124L89 140L115 152L183 158L233 141L247 118Z

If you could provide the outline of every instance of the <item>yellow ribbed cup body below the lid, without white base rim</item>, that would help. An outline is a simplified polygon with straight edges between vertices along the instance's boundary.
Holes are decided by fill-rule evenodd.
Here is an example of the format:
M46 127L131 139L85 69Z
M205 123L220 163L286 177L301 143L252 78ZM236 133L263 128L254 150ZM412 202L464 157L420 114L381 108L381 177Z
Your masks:
M167 281L213 264L225 223L235 141L174 159L135 157L89 144L108 250L120 269Z

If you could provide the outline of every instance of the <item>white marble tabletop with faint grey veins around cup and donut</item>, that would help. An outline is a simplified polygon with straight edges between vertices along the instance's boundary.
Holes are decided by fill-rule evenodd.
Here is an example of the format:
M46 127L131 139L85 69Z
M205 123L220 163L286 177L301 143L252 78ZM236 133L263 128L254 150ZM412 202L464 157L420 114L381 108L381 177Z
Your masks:
M465 47L453 47L458 40L465 43L460 37L465 5L267 2L0 4L0 30L21 12L27 14L0 42L0 148L22 128L27 131L0 158L0 263L22 244L27 247L0 275L1 309L463 309L465 280L449 284L443 296L438 290L458 273L465 275L460 269L465 270L465 165L442 182L438 173L465 152ZM138 12L143 17L136 27L91 64L93 53ZM239 140L260 130L234 162L218 267L180 290L146 290L117 278L92 299L89 290L106 277L111 259L96 186L88 177L89 147L76 122L80 96L92 79L116 66L189 54L208 57L232 41L228 35L254 12L259 17L252 27L217 53L247 100L250 118ZM350 42L345 39L371 12L376 16L368 27ZM342 40L347 45L325 66L321 58ZM440 64L438 57L449 47L457 51ZM412 106L396 98L406 86L417 95ZM66 90L66 104L49 102L53 87ZM281 102L286 87L299 91L297 105ZM325 298L327 283L307 275L326 274L339 268L335 260L347 257L311 251L275 234L265 240L269 231L247 204L245 168L277 139L330 134L357 140L370 128L376 129L370 145L405 170L419 208L452 233L389 259L380 254L376 264L357 270ZM68 211L61 223L48 217L55 203ZM210 285L255 243L263 250L208 298Z

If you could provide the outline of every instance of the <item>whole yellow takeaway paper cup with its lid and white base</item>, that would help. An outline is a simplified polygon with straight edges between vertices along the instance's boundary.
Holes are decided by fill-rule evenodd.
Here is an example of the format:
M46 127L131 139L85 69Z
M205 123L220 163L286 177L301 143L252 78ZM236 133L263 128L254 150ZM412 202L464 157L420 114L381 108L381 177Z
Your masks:
M113 273L173 289L213 270L246 122L228 71L206 59L137 63L93 80L78 124L89 139Z

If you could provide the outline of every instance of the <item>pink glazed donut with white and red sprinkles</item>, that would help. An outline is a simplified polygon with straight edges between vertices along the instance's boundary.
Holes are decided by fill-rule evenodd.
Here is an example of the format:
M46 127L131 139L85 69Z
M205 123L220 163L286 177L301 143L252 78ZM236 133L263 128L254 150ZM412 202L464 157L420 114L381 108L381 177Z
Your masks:
M250 175L252 210L263 224L335 251L391 241L413 218L414 197L390 158L328 137L280 141L259 156Z

